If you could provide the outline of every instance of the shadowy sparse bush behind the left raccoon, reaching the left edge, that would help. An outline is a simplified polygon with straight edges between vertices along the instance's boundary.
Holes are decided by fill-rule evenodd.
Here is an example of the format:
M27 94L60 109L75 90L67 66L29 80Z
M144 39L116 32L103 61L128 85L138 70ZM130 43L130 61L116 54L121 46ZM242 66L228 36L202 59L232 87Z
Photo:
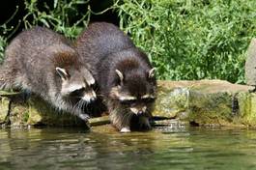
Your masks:
M4 49L7 42L11 41L17 30L22 28L29 29L35 25L41 25L53 29L54 31L64 34L70 39L76 36L89 23L91 11L89 8L89 0L54 0L54 1L39 1L39 0L24 0L24 4L17 6L16 11L11 18L0 26L3 34L0 36L0 62L4 58ZM24 6L24 9L22 7ZM78 12L78 9L83 13ZM18 14L17 11L24 11L17 25L10 25L9 22ZM20 16L18 16L20 18ZM21 29L20 29L21 27Z

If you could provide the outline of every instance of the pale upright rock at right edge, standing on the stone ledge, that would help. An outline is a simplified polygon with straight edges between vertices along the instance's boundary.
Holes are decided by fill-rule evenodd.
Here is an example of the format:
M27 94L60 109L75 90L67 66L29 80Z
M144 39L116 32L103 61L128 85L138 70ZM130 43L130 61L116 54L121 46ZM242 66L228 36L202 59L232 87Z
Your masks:
M256 86L256 39L252 39L248 47L245 80L246 84Z

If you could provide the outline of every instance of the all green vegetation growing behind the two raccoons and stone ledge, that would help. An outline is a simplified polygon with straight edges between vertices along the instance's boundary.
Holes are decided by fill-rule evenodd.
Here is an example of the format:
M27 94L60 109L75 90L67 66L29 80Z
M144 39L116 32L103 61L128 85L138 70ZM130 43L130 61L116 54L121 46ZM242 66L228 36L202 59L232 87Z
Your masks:
M44 25L74 39L91 21L89 0L25 0L21 26ZM42 3L42 2L41 2ZM244 82L245 52L256 36L254 0L123 0L120 27L145 50L160 79L218 78ZM103 12L105 12L103 11ZM104 13L99 14L104 14ZM7 35L15 30L1 26ZM0 37L0 57L10 41Z

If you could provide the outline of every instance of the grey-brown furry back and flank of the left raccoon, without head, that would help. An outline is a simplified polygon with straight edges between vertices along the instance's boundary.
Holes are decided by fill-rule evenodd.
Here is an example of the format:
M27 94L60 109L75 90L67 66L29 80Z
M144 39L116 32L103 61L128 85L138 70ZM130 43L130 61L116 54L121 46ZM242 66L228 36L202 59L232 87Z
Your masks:
M43 27L23 31L6 48L1 69L3 87L26 89L45 97L50 88L59 87L54 58L60 51L74 52L63 36Z

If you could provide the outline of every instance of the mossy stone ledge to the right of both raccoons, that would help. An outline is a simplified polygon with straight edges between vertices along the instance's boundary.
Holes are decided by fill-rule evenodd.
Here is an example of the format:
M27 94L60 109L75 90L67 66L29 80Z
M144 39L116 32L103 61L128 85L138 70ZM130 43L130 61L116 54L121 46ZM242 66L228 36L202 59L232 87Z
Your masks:
M159 81L154 115L199 126L256 127L252 89L221 80Z

